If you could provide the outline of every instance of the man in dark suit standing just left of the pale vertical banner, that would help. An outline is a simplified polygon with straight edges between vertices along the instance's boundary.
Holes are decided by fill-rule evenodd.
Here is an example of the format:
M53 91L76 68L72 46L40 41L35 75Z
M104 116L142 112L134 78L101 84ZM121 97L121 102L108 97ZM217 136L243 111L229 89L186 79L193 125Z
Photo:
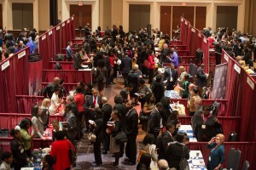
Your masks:
M204 72L205 65L201 64L201 66L196 71L196 85L198 88L199 96L202 95L202 90L205 86L207 86L207 74Z

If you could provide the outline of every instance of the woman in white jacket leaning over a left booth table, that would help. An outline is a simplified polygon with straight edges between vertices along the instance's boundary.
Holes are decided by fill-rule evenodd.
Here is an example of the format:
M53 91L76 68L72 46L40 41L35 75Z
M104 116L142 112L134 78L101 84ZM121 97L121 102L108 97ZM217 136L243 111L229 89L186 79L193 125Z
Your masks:
M60 88L55 87L54 94L52 94L52 97L50 99L49 115L54 115L64 101L63 99L59 99L59 94Z

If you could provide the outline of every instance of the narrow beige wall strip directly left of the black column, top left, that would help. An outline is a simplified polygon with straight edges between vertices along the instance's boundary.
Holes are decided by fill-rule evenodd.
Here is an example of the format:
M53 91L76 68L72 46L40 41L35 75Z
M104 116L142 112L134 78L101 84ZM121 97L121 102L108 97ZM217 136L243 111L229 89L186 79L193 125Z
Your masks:
M49 29L49 0L39 0L39 31Z

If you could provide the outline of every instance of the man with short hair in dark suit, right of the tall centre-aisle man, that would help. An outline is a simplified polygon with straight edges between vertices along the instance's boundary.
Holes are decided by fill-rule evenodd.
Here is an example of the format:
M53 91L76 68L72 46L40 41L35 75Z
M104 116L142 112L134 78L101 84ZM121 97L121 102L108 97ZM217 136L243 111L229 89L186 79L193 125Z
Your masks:
M161 102L158 102L148 118L148 133L154 134L155 139L160 133L160 111L162 111L163 107L164 105Z

